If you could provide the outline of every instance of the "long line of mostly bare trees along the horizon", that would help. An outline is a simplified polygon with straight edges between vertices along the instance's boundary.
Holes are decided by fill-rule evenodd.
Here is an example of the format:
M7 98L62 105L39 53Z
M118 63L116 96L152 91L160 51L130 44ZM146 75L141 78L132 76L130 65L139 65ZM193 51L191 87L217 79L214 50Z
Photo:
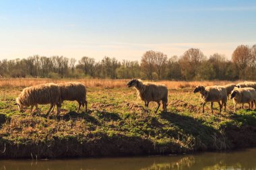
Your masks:
M0 60L1 77L96 78L149 80L237 80L256 79L256 44L241 45L231 60L224 54L205 56L190 48L182 56L168 58L163 52L149 50L138 61L105 56L102 60L83 56L80 60L64 56L30 56Z

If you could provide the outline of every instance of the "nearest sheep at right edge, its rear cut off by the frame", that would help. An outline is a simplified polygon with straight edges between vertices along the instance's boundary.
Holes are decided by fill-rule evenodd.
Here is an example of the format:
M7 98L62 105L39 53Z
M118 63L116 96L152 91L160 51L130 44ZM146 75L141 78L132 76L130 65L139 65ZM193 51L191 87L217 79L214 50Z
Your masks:
M233 99L234 102L234 112L236 112L236 103L242 103L242 109L244 108L244 103L248 103L250 109L250 102L251 108L253 108L253 103L256 105L256 91L253 87L235 88L231 93L230 99Z

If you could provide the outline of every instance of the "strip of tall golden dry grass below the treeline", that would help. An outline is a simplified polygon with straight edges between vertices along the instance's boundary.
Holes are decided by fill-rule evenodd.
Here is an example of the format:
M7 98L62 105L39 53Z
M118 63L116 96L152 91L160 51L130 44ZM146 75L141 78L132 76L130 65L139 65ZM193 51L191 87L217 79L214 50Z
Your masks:
M86 87L119 88L126 87L128 79L41 79L41 78L2 78L0 87L29 87L42 83L63 83L77 81L84 83ZM168 89L193 88L197 85L226 85L228 83L237 83L232 81L158 81L168 87Z

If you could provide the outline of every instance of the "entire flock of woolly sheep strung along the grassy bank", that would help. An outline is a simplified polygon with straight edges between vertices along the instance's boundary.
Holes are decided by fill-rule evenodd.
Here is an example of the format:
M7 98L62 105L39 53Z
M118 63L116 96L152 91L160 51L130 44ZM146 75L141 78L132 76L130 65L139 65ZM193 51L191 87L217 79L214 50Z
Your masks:
M160 101L162 101L162 108L167 111L168 102L168 89L166 85L158 83L143 83L140 79L132 79L127 83L127 87L135 87L137 90L138 97L144 101L145 110L148 111L148 105L150 101L158 103L155 113L160 107ZM211 102L211 109L213 113L213 103L218 102L220 105L220 112L224 105L224 110L226 111L226 102L231 94L230 99L234 101L234 112L236 112L236 103L242 103L242 108L244 103L249 104L249 108L253 108L253 103L256 106L256 83L247 82L229 85L214 85L214 86L197 86L194 89L194 93L199 92L201 98L203 99L203 113L205 103ZM46 83L42 85L35 85L32 87L26 87L23 89L22 93L16 98L15 105L21 112L27 107L30 107L30 112L32 113L34 106L36 111L40 114L38 110L38 104L51 104L49 111L46 116L48 116L53 110L55 105L57 106L57 114L61 112L61 105L63 101L77 101L79 103L79 109L81 105L85 108L87 112L87 101L86 101L86 86L82 83Z

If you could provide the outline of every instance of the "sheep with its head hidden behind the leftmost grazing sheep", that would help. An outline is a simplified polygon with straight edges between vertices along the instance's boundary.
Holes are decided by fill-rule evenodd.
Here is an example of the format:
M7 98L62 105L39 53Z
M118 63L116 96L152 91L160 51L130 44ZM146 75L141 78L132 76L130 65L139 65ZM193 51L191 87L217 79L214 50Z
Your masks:
M65 100L77 101L79 103L77 112L79 112L81 105L85 107L87 112L86 86L84 84L76 82L60 83L59 87L61 89L61 102Z

